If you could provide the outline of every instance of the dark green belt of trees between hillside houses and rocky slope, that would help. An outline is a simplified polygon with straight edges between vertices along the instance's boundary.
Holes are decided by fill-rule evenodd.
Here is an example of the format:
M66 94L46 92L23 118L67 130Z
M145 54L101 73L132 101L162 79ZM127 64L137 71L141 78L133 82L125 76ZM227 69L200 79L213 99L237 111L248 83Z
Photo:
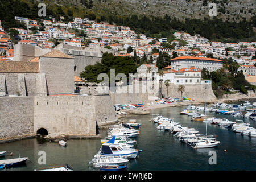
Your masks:
M232 42L237 40L254 40L256 27L256 16L250 21L245 19L239 22L235 20L226 20L225 22L218 18L201 19L185 19L181 21L177 18L171 18L170 15L153 16L153 15L118 15L110 13L107 9L102 9L101 13L92 9L92 1L81 1L85 6L70 6L69 3L63 5L52 3L46 6L47 17L54 17L56 21L63 16L64 22L73 19L73 16L81 16L81 18L89 18L96 22L109 22L110 24L118 24L121 26L129 26L138 34L143 33L146 36L155 36L156 38L166 37L173 39L174 31L184 31L191 35L200 34L210 40L226 40ZM94 2L95 3L95 2ZM15 6L14 6L15 5ZM22 23L16 22L15 16L23 16L30 19L38 19L38 2L25 0L3 0L0 1L0 19L5 29L8 28L24 28Z

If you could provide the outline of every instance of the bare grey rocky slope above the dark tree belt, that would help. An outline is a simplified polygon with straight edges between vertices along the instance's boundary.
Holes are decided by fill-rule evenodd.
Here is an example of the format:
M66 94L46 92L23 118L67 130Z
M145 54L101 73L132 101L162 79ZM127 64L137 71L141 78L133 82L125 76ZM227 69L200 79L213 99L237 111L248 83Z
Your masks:
M32 1L32 0L23 0ZM85 4L93 2L93 8ZM86 13L115 15L171 15L179 19L204 19L208 17L209 3L216 3L217 17L228 20L249 20L255 15L255 0L44 0L47 4L61 5L65 8L75 6ZM76 11L77 15L81 11Z

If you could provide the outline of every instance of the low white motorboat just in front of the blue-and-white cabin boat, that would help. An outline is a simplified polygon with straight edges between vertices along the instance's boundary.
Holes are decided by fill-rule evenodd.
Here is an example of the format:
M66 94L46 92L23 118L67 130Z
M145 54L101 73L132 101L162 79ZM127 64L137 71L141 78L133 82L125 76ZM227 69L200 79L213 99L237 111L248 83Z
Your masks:
M114 158L112 157L106 157L106 158L94 158L92 161L88 162L89 166L93 167L101 167L101 166L110 166L110 165L126 165L126 163L129 162L129 159L125 158Z

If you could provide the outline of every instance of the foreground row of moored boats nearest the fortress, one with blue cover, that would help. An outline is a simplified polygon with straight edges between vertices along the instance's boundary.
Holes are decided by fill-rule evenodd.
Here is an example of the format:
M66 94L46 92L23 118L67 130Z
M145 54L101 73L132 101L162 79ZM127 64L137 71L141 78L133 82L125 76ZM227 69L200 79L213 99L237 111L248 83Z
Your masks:
M127 168L130 159L138 158L142 150L134 148L141 123L130 120L129 123L109 127L108 137L101 140L102 146L94 158L88 162L90 167L101 171L120 171Z

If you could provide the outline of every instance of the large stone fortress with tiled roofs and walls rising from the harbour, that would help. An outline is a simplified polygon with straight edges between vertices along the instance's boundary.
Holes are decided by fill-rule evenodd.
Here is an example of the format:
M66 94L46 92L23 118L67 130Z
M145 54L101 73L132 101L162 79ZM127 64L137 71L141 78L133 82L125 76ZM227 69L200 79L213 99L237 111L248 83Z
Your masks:
M61 134L96 137L96 125L117 121L109 94L74 94L74 76L102 53L16 44L0 61L0 142ZM75 57L75 58L74 58Z

